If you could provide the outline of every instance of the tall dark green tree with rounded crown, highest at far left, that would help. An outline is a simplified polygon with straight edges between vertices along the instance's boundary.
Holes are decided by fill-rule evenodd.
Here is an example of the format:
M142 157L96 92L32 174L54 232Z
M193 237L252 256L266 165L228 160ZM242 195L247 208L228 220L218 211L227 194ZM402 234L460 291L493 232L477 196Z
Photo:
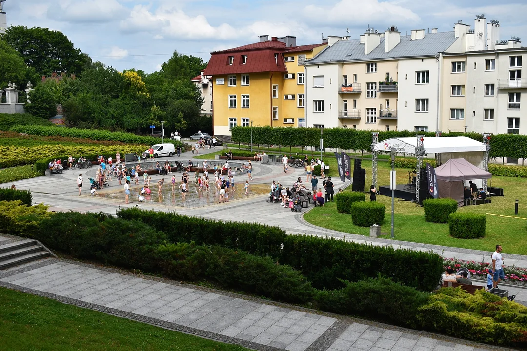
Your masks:
M80 76L89 60L62 32L48 28L11 26L2 34L2 39L39 75L66 71Z

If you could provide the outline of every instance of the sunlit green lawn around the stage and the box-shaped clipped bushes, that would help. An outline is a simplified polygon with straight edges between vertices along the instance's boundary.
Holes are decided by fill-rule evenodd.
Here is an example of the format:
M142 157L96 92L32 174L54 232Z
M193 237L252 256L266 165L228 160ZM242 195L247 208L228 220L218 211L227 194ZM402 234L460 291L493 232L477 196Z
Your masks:
M366 168L366 184L370 184L372 162L363 161L363 168ZM398 168L396 172L397 184L406 183L407 170ZM388 163L379 162L377 174L377 185L389 184ZM518 215L514 215L514 202L520 194L524 194L527 187L527 179L494 176L492 177L492 186L504 188L505 196L493 197L492 204L465 206L458 208L458 211L493 213L525 218L527 214L526 200L522 200L522 197L520 197ZM367 187L369 188L369 186ZM369 196L366 195L366 198L368 200ZM386 216L381 228L384 233L390 232L391 201L391 197L377 195L377 202L386 205ZM316 207L310 210L309 213L304 215L304 219L320 227L369 236L369 228L353 225L351 216L338 213L335 203L328 203L324 207ZM525 240L525 237L527 237L526 222L525 219L487 215L487 227L484 238L457 239L448 234L448 224L425 222L422 207L418 207L412 202L395 199L395 239L407 242L462 247L486 250L488 252L492 252L495 245L500 244L506 253L527 255L527 240ZM386 238L386 236L383 237Z

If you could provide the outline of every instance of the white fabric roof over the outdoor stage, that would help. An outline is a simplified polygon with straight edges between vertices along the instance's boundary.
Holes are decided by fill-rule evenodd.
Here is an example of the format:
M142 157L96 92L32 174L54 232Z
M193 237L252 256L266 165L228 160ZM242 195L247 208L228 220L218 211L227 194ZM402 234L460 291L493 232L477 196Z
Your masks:
M423 146L425 154L474 152L485 151L483 143L475 141L466 136L441 136L424 137ZM391 148L397 152L415 154L417 137L413 138L391 138L375 144L376 151L390 151Z

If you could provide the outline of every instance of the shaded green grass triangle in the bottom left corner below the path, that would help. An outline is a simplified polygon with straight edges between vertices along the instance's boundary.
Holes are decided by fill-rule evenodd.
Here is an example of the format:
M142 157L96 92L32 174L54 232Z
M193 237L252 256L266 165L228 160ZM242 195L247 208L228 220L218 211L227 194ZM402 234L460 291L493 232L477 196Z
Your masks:
M3 350L247 350L0 288Z

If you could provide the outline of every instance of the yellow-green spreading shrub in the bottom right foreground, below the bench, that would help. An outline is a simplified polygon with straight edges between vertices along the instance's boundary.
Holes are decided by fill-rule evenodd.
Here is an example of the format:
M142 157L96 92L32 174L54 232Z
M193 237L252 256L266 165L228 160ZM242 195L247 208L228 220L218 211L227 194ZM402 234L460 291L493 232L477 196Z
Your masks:
M474 295L461 287L441 288L418 308L421 328L509 346L527 343L527 308L483 289Z

